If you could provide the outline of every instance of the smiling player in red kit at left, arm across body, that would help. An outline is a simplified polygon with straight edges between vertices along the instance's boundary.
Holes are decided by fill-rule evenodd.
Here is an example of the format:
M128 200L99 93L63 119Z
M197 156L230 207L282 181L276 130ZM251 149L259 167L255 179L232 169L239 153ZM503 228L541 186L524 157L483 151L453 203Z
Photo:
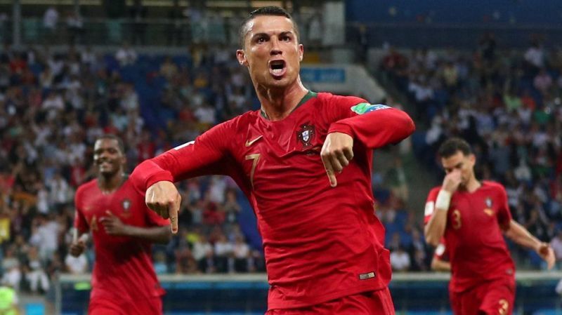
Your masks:
M96 263L88 314L162 314L160 288L151 261L151 243L168 243L169 220L146 207L124 172L124 148L114 135L96 140L95 180L81 185L74 199L74 227L81 236L70 253L84 252L86 232L93 236Z

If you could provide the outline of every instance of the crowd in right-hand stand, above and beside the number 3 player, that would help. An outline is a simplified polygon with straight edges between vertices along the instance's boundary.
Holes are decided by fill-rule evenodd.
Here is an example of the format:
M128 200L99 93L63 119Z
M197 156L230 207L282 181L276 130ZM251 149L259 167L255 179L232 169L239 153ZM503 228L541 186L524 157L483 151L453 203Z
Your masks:
M562 49L533 38L526 51L499 51L493 34L472 52L389 48L380 69L415 106L426 132L412 138L416 156L440 182L436 150L452 135L476 151L483 180L507 189L515 220L556 257L562 232ZM540 267L532 252L523 262Z

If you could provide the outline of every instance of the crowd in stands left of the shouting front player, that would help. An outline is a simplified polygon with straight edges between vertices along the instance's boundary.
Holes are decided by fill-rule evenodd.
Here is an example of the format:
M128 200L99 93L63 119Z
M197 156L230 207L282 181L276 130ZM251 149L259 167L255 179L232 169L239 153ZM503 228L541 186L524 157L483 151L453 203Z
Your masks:
M192 56L155 62L126 45L115 55L89 48L54 52L48 47L14 51L4 46L0 56L4 281L20 290L45 292L58 272L91 270L92 251L74 258L67 254L67 246L74 191L93 178L91 157L98 135L114 133L124 140L131 170L249 108L251 86L242 69L230 68L224 49L209 53L194 49ZM131 79L131 71L141 67L143 76ZM156 87L148 95L138 93L135 80ZM139 94L157 103L149 104ZM164 119L164 128L145 123L152 115L157 121ZM263 272L261 251L249 246L237 223L240 192L234 182L202 177L181 188L181 229L168 246L155 246L157 272Z

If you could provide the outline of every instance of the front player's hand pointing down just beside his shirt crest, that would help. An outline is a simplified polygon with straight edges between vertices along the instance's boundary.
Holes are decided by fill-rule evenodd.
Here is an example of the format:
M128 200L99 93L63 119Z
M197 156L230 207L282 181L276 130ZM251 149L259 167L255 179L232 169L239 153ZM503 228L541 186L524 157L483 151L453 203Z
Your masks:
M341 170L353 159L353 138L346 133L329 133L320 156L324 168L326 168L329 185L336 187L337 180L334 172L341 173Z

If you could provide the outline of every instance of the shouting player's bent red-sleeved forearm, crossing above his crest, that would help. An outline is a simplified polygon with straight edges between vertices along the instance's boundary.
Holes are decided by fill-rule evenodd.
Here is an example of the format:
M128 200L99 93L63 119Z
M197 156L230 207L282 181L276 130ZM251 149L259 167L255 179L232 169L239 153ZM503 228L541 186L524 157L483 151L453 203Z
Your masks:
M328 133L346 133L370 149L398 143L414 133L414 121L399 109L381 109L332 123Z

